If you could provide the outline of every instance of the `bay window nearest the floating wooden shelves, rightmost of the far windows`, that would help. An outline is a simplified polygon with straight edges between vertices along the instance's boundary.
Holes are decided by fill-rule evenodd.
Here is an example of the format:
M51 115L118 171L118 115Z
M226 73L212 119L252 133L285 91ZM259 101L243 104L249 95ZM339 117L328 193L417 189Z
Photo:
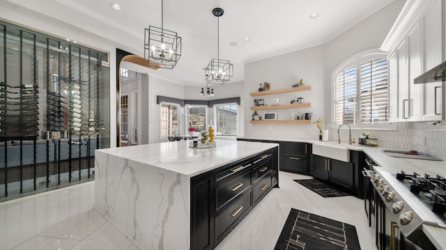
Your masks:
M216 135L237 135L237 104L223 104L215 106L215 118L217 119Z

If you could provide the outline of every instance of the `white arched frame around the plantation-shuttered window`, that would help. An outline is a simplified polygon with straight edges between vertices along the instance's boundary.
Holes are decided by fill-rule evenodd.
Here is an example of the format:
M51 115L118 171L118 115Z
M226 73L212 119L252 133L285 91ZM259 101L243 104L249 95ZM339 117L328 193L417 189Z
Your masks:
M331 81L331 89L332 89L332 112L331 112L331 122L334 124L334 126L337 126L339 124L336 123L336 83L338 74L345 71L346 69L349 69L351 67L356 67L356 106L355 106L355 116L357 117L357 121L354 124L349 124L353 127L362 127L364 125L370 126L374 124L384 124L384 128L392 128L392 126L388 125L390 122L367 122L362 123L360 120L360 68L361 65L364 63L367 63L370 60L375 59L385 59L387 60L387 53L380 51L379 49L370 49L367 51L362 51L361 53L357 53L354 56L351 56L351 58L348 58L343 63L339 64L339 66L334 70L332 74L332 81ZM387 66L388 67L388 66ZM388 74L388 73L387 73ZM388 76L387 76L388 79ZM389 81L387 80L387 103L389 103L389 95L388 95L388 88L389 88ZM386 125L387 124L387 125Z

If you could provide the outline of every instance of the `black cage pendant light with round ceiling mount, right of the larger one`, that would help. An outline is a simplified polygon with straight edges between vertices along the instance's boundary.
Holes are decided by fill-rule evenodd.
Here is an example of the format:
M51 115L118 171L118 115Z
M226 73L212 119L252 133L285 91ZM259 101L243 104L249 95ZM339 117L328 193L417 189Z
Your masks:
M208 84L224 84L231 80L233 76L233 64L229 60L220 59L220 17L223 15L222 8L214 8L212 13L217 17L217 58L210 60L204 69L206 87Z

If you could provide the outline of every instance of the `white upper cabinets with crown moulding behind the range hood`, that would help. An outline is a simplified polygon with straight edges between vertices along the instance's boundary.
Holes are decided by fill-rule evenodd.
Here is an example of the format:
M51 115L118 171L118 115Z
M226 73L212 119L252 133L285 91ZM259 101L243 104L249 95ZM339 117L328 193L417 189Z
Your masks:
M441 86L445 83L414 84L414 79L445 60L445 1L408 0L381 45L389 52L390 122L442 117Z

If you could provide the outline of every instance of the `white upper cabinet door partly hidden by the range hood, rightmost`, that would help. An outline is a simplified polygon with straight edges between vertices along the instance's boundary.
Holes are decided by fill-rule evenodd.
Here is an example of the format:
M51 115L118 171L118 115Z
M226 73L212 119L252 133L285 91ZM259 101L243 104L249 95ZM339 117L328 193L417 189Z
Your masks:
M424 72L442 63L442 24L441 1L433 4L422 14L424 29ZM441 119L442 94L441 82L423 84L423 119L433 121Z

